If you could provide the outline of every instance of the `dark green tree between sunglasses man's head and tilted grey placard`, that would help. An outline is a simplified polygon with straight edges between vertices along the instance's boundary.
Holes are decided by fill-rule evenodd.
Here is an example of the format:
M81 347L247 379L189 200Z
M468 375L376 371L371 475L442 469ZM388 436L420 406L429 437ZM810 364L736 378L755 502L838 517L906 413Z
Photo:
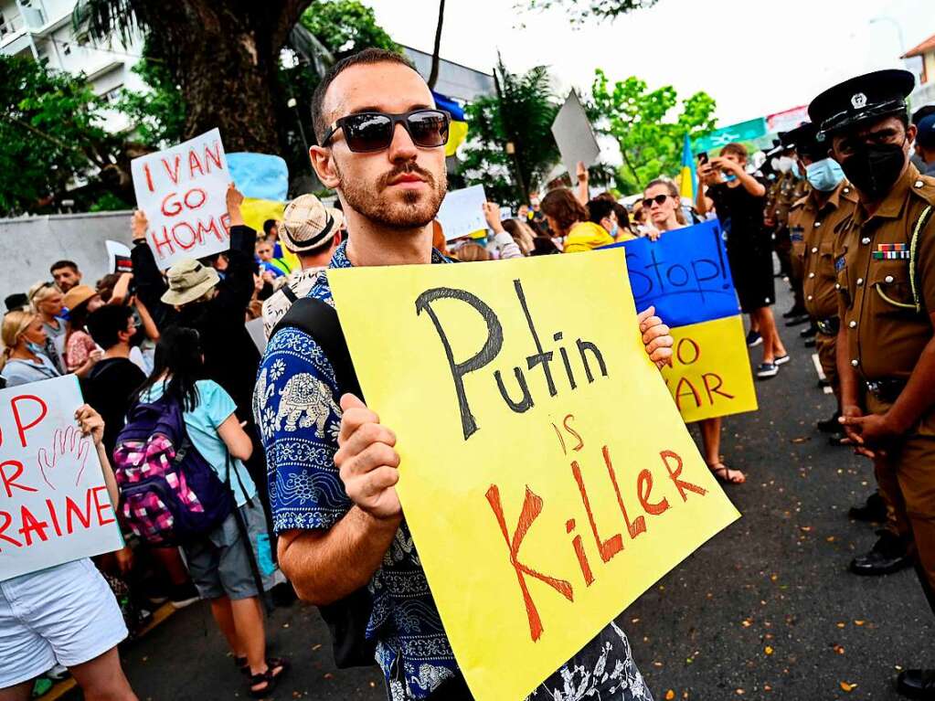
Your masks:
M559 160L551 129L559 104L546 66L518 75L500 61L495 76L500 94L481 97L465 110L469 126L462 174L468 184L482 184L490 199L516 206L527 201L527 193ZM509 142L515 156L507 153Z

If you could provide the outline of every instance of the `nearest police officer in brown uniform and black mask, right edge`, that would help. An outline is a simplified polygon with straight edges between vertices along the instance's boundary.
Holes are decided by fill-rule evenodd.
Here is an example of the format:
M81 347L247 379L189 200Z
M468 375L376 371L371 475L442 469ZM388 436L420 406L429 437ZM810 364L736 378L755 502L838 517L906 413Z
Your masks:
M841 422L873 459L887 507L910 523L935 610L935 179L909 161L914 84L907 71L870 73L820 94L809 114L859 196L835 251ZM906 670L898 683L935 699L935 671Z

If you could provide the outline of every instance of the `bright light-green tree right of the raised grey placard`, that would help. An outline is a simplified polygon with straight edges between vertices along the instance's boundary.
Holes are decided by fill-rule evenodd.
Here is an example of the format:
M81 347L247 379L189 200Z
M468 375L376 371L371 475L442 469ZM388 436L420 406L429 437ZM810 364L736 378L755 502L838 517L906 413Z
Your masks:
M670 85L650 91L633 76L611 83L598 68L592 98L589 113L597 131L620 146L624 164L617 187L624 193L638 193L659 176L678 175L685 134L695 139L714 129L717 105L708 93L695 93L680 104Z

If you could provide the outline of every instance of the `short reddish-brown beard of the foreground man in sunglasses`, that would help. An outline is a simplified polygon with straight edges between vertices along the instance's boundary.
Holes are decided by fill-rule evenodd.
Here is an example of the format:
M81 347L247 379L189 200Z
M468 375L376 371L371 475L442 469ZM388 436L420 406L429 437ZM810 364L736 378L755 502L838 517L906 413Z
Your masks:
M404 190L402 197L391 199L388 192L390 180L405 173L414 173L423 178L429 193L424 195L414 190ZM341 178L340 191L348 207L371 222L391 229L414 229L431 222L439 213L441 200L448 190L448 175L445 171L437 179L412 162L397 165L373 184L345 179L340 170L338 176Z

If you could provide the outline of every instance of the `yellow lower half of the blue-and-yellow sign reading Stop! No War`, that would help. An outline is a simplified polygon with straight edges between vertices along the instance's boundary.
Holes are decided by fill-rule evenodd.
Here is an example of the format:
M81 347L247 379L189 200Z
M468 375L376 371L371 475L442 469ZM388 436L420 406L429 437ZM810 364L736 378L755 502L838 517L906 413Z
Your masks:
M672 366L662 375L686 422L756 410L741 317L672 329Z

